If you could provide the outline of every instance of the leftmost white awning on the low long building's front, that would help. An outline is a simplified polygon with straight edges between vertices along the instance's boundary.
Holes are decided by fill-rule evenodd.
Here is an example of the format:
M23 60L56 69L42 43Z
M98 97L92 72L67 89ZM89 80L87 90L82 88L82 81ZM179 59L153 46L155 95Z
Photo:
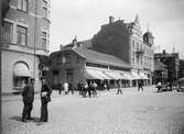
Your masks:
M109 76L105 75L102 70L86 68L85 76L86 79L111 79Z

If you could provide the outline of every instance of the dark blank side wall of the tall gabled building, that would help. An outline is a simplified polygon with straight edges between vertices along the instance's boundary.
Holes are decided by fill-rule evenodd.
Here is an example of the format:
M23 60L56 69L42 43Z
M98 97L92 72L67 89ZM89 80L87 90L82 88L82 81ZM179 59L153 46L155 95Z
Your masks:
M113 55L130 64L130 35L125 25L101 26L93 38L93 49Z

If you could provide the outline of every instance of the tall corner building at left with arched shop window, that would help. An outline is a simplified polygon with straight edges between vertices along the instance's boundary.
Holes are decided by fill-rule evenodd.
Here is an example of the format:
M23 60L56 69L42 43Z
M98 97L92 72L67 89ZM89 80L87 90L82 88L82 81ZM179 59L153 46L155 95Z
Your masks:
M1 24L2 92L20 90L29 77L41 87L41 59L48 55L50 0L10 0Z

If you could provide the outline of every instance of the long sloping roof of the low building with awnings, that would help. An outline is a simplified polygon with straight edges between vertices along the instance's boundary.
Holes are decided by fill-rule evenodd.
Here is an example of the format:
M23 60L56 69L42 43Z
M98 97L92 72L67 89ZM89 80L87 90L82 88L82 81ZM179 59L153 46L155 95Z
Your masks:
M86 58L88 62L113 65L122 68L131 68L131 66L128 63L112 55L107 55L99 52L84 49L79 47L73 48L73 51L78 55L80 55L82 57Z

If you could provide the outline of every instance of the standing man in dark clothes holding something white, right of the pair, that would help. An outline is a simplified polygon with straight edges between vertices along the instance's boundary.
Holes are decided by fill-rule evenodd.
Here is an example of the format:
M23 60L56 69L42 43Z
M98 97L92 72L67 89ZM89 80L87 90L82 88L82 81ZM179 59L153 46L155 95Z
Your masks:
M52 89L50 88L45 78L42 78L41 80L42 80L42 89L41 89L41 103L42 103L42 105L41 105L40 122L47 122L48 121L47 103L51 101Z

